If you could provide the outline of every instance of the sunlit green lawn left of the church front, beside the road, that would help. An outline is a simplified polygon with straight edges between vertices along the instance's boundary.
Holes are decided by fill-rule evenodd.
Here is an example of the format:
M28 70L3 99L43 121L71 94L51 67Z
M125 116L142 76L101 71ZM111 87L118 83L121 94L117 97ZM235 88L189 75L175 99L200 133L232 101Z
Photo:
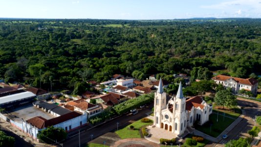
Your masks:
M129 129L130 125L128 125L128 126L124 127L123 129L116 131L115 133L118 134L121 139L141 138L140 133L139 133L139 129L142 126L148 125L148 124L152 124L152 122L151 123L142 123L140 120L138 120L138 121L130 124L130 125L134 126L133 130Z

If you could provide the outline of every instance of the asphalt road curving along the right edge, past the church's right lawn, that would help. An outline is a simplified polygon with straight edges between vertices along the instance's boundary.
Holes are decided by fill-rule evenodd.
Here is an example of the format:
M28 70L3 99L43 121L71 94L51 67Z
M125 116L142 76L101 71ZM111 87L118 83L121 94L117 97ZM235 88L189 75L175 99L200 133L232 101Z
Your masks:
M247 131L254 125L254 119L256 115L261 114L261 102L252 101L245 98L237 98L238 105L244 107L245 117L228 133L228 138L222 139L215 147L224 147L230 140L237 140L240 137L248 137Z

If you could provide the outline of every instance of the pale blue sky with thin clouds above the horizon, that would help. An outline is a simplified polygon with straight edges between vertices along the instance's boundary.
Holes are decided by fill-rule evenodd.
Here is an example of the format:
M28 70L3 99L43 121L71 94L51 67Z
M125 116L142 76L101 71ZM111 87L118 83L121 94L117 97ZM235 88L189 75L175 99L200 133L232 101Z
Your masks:
M0 0L0 18L261 18L261 0Z

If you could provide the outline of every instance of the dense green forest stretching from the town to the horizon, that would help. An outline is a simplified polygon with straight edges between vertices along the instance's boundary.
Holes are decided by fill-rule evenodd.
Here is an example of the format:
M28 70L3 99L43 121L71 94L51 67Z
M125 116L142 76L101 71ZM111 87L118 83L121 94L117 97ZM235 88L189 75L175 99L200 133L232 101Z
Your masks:
M73 89L115 73L143 79L197 69L257 78L260 24L261 19L0 19L0 79Z

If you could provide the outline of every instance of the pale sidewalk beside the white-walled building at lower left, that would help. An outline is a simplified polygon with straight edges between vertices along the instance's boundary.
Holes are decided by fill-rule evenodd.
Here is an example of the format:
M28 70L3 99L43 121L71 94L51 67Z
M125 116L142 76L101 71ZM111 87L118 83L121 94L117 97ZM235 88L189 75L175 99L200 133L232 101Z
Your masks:
M0 126L12 131L16 135L20 136L23 140L32 144L35 147L56 147L56 146L51 146L49 144L39 143L36 140L33 140L31 137L27 136L25 133L20 131L18 128L12 126L10 123L3 121L2 119L0 120Z

